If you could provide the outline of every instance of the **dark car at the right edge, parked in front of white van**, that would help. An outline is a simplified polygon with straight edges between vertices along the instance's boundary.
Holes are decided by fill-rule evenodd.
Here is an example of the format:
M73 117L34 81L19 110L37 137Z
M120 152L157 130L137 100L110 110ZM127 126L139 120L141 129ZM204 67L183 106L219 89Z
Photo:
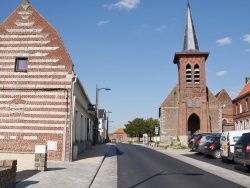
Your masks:
M235 144L234 162L250 169L250 132L243 133Z

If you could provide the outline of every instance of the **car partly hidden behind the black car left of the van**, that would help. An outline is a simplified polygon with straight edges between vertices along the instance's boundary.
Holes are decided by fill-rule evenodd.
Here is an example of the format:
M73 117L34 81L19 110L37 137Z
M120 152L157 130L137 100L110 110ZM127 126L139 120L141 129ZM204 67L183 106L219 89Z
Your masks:
M204 144L207 142L211 142L211 138L214 136L220 136L221 133L204 133L199 135L194 142L194 150L198 153L202 153L202 149Z

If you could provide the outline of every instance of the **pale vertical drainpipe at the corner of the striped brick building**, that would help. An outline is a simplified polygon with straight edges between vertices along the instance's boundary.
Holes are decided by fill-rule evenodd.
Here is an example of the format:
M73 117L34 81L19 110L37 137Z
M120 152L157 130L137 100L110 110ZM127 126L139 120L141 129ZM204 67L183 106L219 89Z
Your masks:
M73 81L74 79L74 81ZM74 123L74 117L75 117L75 112L74 112L74 109L75 109L75 96L74 96L74 90L75 90L75 83L77 81L77 75L74 75L73 78L72 78L72 87L71 87L71 109L70 109L70 145L69 145L69 149L70 149L70 154L69 154L69 161L72 161L72 145L73 145L73 142L72 142L72 139L73 139L73 123Z

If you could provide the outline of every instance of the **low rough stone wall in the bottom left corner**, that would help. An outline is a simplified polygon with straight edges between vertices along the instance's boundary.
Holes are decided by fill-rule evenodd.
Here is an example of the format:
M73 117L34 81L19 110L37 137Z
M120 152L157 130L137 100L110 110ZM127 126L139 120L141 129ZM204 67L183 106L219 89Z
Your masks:
M0 160L0 187L15 187L17 160Z

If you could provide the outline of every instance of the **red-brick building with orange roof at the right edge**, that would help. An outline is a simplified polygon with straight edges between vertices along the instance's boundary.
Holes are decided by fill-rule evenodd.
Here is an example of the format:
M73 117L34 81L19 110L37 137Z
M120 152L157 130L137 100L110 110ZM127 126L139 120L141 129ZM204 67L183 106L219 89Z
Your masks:
M250 129L250 77L246 77L246 84L233 100L235 130Z

